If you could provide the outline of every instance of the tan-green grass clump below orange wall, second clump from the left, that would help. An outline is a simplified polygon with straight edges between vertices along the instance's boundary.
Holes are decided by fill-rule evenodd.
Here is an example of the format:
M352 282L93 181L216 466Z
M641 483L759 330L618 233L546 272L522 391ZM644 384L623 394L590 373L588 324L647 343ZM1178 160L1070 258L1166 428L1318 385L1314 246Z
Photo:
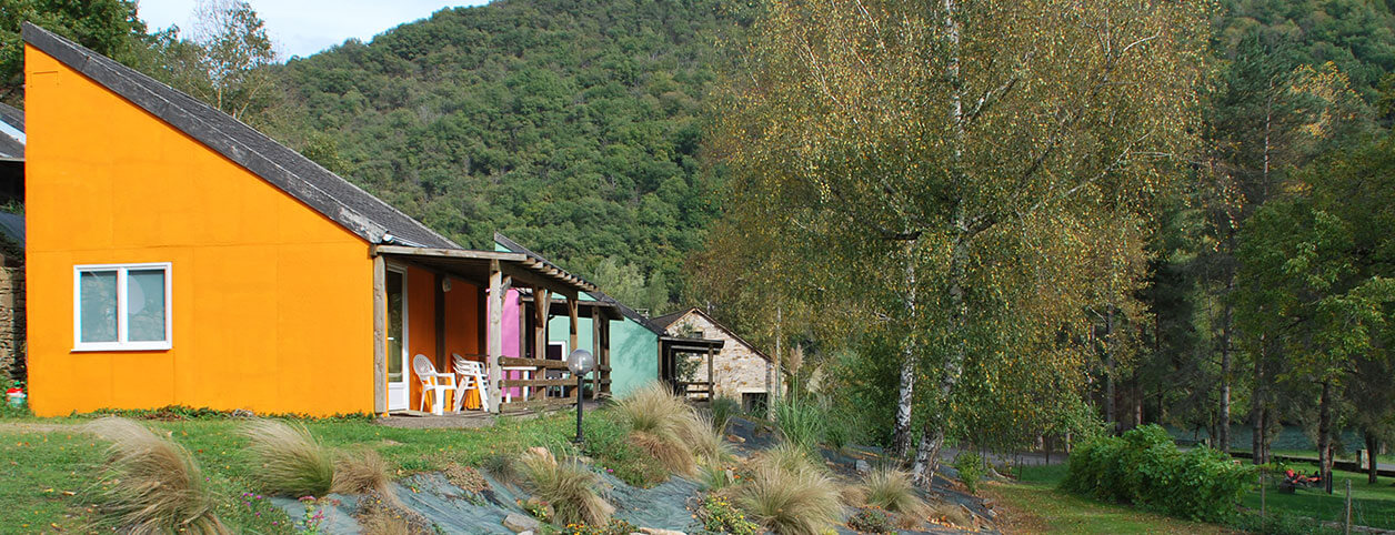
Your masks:
M292 497L329 493L335 478L333 458L304 425L255 419L243 429L243 435L251 442L248 453L258 465L252 478L262 490Z

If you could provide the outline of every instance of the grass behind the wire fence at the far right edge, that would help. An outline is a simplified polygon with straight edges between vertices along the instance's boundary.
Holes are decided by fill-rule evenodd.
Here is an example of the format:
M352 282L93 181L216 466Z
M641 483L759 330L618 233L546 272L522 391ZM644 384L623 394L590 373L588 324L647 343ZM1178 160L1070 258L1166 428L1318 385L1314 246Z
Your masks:
M1303 474L1317 471L1313 464L1293 464L1292 468ZM1269 511L1341 521L1346 509L1346 481L1352 482L1352 524L1395 529L1395 486L1391 486L1395 478L1380 478L1375 485L1370 485L1364 474L1334 471L1331 495L1318 489L1299 489L1293 495L1285 495L1278 492L1276 479L1268 478L1267 507ZM1244 497L1244 506L1260 509L1258 490Z

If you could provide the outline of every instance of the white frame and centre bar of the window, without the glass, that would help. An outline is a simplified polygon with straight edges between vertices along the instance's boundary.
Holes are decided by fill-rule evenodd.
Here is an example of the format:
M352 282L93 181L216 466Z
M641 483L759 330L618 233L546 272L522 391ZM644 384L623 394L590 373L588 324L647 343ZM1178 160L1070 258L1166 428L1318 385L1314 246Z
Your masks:
M127 340L127 273L130 270L165 270L165 340ZM116 341L82 341L82 273L116 272ZM86 263L73 266L73 351L160 351L173 347L174 300L172 295L174 266L170 262L148 263Z

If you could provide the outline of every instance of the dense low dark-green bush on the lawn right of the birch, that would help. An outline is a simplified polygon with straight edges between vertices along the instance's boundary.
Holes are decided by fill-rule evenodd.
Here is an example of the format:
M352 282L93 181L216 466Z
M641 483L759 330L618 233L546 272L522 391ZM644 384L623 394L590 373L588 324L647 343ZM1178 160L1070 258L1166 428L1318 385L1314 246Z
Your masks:
M1182 453L1165 429L1145 425L1119 437L1077 446L1062 486L1103 500L1219 522L1235 517L1253 471L1208 447Z

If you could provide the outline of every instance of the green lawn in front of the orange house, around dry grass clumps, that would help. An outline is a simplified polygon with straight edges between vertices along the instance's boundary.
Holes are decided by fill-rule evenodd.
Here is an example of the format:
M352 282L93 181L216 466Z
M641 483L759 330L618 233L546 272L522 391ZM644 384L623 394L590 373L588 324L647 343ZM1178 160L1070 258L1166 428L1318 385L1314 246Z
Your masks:
M575 417L572 417L575 418ZM80 429L91 418L0 418L0 532L80 531L95 520L85 504L105 458L106 443ZM478 465L495 453L527 446L565 444L575 433L566 414L501 419L485 429L396 429L364 419L308 421L332 447L371 447L398 475L438 470L449 463ZM206 418L146 421L163 429L198 461L222 497L219 515L234 531L290 532L290 518L271 504L241 499L255 493L252 470L237 433L241 421ZM271 524L276 522L276 524Z

